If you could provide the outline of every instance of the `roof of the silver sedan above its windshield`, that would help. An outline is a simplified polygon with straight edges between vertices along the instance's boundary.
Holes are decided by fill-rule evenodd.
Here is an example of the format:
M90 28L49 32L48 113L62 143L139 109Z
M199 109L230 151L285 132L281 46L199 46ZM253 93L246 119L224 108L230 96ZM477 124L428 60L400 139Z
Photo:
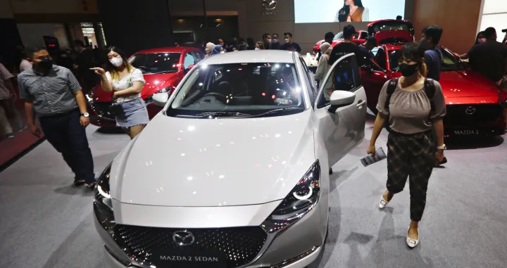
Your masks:
M227 63L294 63L294 51L238 51L220 53L203 61L205 64L227 64ZM299 56L298 56L299 57Z

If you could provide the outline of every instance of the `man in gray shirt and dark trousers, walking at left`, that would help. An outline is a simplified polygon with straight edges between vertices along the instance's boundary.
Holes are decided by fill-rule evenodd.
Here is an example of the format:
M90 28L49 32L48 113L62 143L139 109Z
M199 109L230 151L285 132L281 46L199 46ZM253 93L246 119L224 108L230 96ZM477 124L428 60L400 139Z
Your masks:
M87 184L92 189L94 165L84 131L89 114L80 84L70 70L53 64L46 49L28 49L27 56L33 65L18 75L18 84L28 127L35 136L41 134L35 125L35 112L46 139L74 172L74 185Z

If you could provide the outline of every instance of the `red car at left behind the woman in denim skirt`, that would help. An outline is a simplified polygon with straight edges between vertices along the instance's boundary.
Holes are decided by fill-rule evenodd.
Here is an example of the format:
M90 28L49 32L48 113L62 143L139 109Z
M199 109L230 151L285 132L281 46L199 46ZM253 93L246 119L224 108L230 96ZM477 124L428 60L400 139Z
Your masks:
M188 70L203 58L204 53L200 49L182 46L148 49L130 56L130 64L141 70L146 80L141 97L146 103L150 119L161 110L154 105L151 96L160 92L173 93ZM112 92L106 93L102 90L100 84L87 95L93 125L116 126L115 117L108 113L112 95Z

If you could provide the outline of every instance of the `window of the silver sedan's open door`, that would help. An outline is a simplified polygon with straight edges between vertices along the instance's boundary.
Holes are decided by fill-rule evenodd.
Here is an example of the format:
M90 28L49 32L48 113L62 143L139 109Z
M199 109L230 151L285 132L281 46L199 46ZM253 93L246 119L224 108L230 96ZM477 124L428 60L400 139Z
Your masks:
M317 108L330 105L330 97L333 91L356 91L361 87L361 72L356 62L356 56L344 58L334 66L331 74L325 79L323 91L318 96Z

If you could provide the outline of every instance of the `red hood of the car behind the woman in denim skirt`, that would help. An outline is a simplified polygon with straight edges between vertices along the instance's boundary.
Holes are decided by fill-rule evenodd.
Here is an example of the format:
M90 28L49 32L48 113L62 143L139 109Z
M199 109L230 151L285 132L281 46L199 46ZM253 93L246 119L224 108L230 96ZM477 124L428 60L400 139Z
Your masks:
M177 72L159 75L143 75L146 84L144 84L141 92L141 97L147 98L156 92L167 87L177 87L180 82L180 75ZM111 101L112 92L105 92L102 90L101 84L97 84L92 89L92 96L94 101Z

